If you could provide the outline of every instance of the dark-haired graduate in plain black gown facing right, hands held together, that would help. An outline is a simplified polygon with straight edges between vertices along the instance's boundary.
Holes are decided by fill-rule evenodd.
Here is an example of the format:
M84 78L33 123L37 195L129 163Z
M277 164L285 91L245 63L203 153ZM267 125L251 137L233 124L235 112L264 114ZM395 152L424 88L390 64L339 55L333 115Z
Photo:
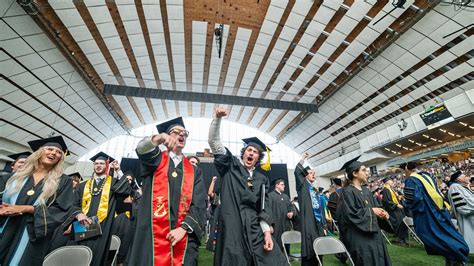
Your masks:
M391 265L378 219L388 220L389 214L375 200L363 184L368 179L368 169L357 161L345 163L347 180L342 191L342 241L355 265Z

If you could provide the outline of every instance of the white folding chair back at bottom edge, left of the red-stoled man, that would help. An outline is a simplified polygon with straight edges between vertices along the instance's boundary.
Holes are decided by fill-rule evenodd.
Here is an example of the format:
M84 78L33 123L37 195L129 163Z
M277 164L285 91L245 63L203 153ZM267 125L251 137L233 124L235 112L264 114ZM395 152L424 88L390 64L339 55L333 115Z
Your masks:
M43 260L43 266L89 266L92 250L86 246L65 246L51 251Z

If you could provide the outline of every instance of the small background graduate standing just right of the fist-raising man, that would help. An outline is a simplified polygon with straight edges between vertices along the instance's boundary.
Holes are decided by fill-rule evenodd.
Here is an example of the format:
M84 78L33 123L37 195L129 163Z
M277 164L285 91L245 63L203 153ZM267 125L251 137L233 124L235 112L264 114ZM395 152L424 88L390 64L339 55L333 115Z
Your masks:
M285 193L285 181L278 179L275 182L275 190L268 193L268 202L275 221L273 225L273 237L278 243L281 242L281 235L285 231L290 231L291 219L296 215L296 210L290 201L290 197ZM283 250L283 245L280 245ZM286 252L290 252L290 244L285 245Z

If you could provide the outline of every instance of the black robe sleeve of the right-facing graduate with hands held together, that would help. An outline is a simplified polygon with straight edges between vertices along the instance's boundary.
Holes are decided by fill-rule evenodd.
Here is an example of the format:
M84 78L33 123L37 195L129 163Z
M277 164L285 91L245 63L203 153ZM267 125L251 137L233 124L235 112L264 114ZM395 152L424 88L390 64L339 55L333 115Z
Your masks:
M343 197L343 212L345 221L348 226L355 227L360 231L367 233L375 233L378 231L377 216L372 211L371 202L370 205L364 206L361 197L362 195L356 195L353 189L346 189L342 193ZM375 200L374 200L375 201Z

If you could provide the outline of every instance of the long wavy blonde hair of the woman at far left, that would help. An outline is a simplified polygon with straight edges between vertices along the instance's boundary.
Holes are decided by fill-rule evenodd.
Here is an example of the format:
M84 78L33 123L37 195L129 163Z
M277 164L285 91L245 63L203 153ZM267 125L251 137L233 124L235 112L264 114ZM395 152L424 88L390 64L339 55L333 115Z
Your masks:
M13 189L8 191L8 194L11 195L15 192L19 192L26 178L33 176L33 174L39 168L41 157L46 152L47 148L47 146L41 147L37 151L33 152L33 154L28 156L23 167L8 180L5 187L8 187L13 182L16 182L14 183L15 186ZM53 166L53 168L49 170L48 174L44 178L43 189L38 197L38 202L42 205L45 205L51 196L56 197L56 190L58 189L59 180L61 179L61 176L64 172L64 157L64 152L61 151L61 158Z

